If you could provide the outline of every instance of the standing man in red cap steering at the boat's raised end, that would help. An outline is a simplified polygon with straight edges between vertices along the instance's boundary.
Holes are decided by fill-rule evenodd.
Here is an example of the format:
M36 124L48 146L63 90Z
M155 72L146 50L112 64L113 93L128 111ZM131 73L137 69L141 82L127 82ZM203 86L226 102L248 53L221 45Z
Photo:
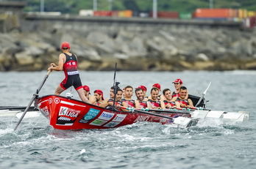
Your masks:
M48 70L61 71L65 73L65 79L57 86L55 95L60 95L63 91L68 89L71 86L77 90L79 97L83 102L89 102L85 97L84 91L82 89L82 83L77 70L77 56L73 53L70 53L70 45L68 42L63 42L60 48L63 53L59 55L59 65L51 63L51 67Z

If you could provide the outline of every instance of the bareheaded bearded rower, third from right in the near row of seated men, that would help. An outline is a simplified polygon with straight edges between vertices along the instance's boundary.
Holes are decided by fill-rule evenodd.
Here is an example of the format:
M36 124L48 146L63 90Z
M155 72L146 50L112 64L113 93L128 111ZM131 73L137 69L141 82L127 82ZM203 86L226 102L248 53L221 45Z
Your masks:
M163 100L160 101L160 99L158 99L158 96L159 96L159 89L153 87L153 88L151 89L151 91L150 91L150 94L151 94L151 99L149 99L148 101L149 101L151 107L152 107L153 109L165 109ZM149 106L150 106L150 105L149 105Z

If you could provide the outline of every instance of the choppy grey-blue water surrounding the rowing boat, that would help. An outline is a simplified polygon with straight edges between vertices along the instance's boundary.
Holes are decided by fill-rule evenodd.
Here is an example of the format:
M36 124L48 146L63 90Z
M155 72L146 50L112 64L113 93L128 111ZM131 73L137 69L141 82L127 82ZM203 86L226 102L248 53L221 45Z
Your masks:
M0 72L0 106L27 105L45 74ZM102 89L109 97L113 72L80 75L90 91ZM40 95L52 94L63 78L62 72L51 72ZM62 131L41 116L24 119L13 132L18 119L1 117L0 168L255 168L256 71L117 72L116 78L121 88L150 89L160 83L172 91L171 82L181 78L189 92L199 93L211 81L207 108L250 111L250 120L204 119L187 129L140 122L117 129ZM72 93L76 98L74 89Z

